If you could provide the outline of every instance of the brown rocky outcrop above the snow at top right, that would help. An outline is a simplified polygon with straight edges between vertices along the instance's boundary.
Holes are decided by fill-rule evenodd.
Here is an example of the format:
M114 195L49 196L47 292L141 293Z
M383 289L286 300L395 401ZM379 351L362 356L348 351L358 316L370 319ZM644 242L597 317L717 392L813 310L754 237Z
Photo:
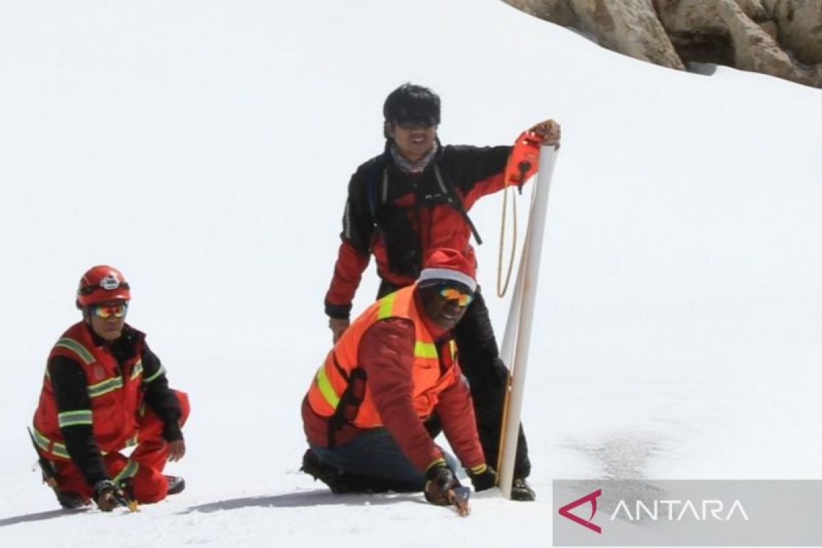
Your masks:
M820 0L504 0L634 58L709 62L822 88Z

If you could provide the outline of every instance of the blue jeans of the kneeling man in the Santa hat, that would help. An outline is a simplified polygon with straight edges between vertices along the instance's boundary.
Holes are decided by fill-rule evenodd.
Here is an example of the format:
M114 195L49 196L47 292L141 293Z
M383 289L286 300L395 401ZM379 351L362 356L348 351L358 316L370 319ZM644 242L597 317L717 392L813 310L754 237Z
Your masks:
M310 445L323 463L339 472L418 485L419 490L425 487L423 472L409 461L385 428L372 428L334 449ZM443 453L448 466L456 472L456 459L445 451Z

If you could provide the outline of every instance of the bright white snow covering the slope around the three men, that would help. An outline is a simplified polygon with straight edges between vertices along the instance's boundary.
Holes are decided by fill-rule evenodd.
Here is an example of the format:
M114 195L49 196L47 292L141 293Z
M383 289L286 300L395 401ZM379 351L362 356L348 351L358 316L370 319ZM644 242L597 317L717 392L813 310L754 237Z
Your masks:
M524 404L535 504L483 493L460 519L298 472L346 184L404 81L441 94L446 143L563 124ZM819 479L820 119L820 90L653 67L496 0L3 2L0 546L547 546L555 478ZM488 289L500 207L472 214ZM169 467L187 490L67 516L25 426L98 263L191 395Z

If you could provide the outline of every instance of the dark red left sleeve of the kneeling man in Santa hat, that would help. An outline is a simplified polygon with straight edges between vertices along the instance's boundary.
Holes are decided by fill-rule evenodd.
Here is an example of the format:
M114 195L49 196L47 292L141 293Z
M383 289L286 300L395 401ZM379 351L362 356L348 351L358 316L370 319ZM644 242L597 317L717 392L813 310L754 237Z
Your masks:
M410 320L380 321L363 334L358 358L383 426L413 465L425 472L442 458L442 451L413 408L414 342Z

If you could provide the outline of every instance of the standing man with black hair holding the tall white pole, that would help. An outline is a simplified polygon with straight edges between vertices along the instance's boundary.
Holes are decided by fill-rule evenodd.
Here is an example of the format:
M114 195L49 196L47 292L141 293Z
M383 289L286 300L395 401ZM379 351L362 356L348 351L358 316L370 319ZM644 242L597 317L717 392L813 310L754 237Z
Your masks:
M480 197L506 186L511 147L441 145L436 136L440 98L432 90L401 85L386 98L383 114L386 148L357 168L349 182L342 243L325 300L335 341L349 327L354 293L372 255L381 278L378 298L412 284L436 249L455 249L475 265L469 239L478 234L467 212ZM530 131L541 135L545 145L559 144L560 127L553 120ZM496 467L508 370L479 290L454 334L483 450L488 464ZM534 500L525 481L530 471L520 429L512 499Z

